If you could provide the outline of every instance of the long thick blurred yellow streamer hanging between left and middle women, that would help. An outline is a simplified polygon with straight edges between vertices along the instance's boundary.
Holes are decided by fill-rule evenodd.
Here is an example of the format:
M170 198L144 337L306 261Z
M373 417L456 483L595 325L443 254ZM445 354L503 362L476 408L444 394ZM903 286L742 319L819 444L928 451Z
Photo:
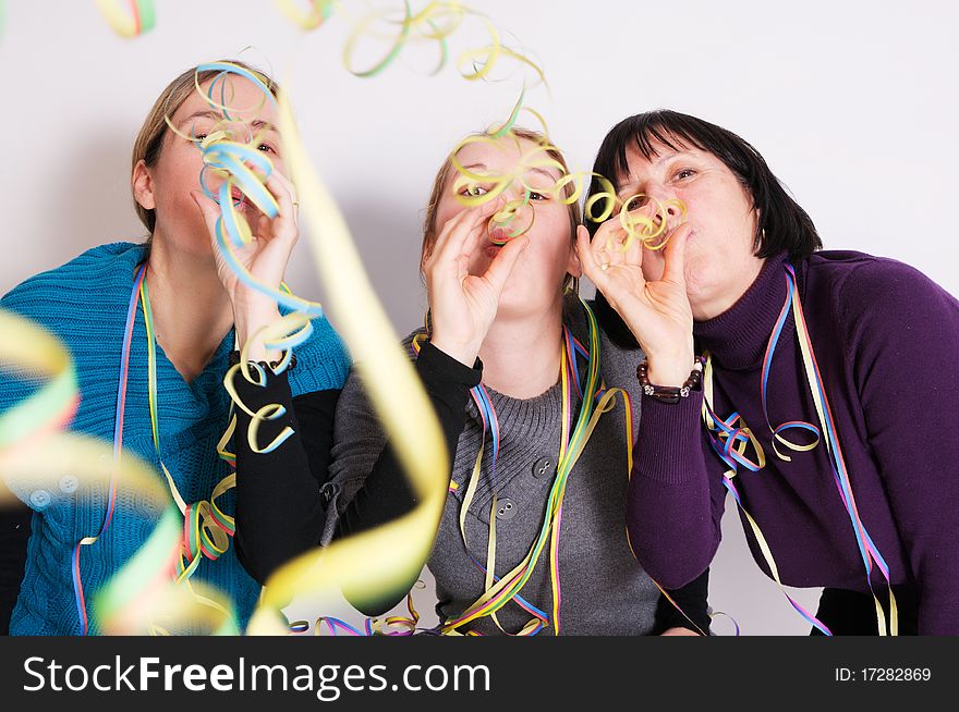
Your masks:
M309 165L286 94L279 108L287 161L305 208L306 233L329 290L330 308L341 316L343 339L418 505L394 521L304 554L276 572L247 628L251 634L286 633L279 611L296 593L342 591L362 603L383 591L408 589L433 548L449 474L449 454L429 400L376 298L342 214Z

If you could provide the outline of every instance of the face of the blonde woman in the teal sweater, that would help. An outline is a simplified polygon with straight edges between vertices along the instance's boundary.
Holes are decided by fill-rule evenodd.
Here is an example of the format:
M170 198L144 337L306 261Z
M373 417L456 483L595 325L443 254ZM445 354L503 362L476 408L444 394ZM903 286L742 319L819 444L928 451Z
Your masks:
M220 84L226 82L222 103L229 105L230 119L227 120L222 110L210 106L206 100L206 90L210 82L202 86L204 96L193 91L180 105L171 122L177 130L186 135L202 139L214 130L230 132L230 138L239 143L247 143L257 136L256 147L264 151L274 164L274 170L287 174L280 151L280 137L276 130L277 110L275 102L265 97L252 82L233 75L220 79L214 91L214 99L221 100ZM145 208L156 210L156 233L172 243L178 249L194 255L211 255L209 233L199 207L191 197L191 191L199 189L199 174L203 170L203 158L198 147L192 142L167 130L162 148L156 164L146 168L148 174L148 192L137 200ZM222 177L206 173L206 185L216 194L222 184ZM137 175L134 174L136 183ZM255 226L259 210L234 186L234 205L246 221ZM151 205L150 205L151 202Z

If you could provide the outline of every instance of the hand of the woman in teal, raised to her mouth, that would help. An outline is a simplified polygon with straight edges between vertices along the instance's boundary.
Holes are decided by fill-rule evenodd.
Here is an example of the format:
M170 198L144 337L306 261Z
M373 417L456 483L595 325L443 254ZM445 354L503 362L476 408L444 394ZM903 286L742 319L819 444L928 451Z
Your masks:
M236 260L255 281L271 290L279 290L293 247L300 238L295 188L279 171L274 171L264 181L264 185L277 200L279 207L277 216L269 218L255 208L238 209L238 212L251 221L253 241L243 247L234 247L232 251ZM192 196L207 224L210 246L217 263L217 274L233 305L236 341L244 344L262 328L279 319L277 303L269 295L247 286L223 258L216 237L216 223L220 217L219 205L199 191L193 191ZM251 213L254 211L256 214L251 220ZM262 345L252 345L250 352L250 358L255 360L274 358L275 356L274 353L267 354Z

